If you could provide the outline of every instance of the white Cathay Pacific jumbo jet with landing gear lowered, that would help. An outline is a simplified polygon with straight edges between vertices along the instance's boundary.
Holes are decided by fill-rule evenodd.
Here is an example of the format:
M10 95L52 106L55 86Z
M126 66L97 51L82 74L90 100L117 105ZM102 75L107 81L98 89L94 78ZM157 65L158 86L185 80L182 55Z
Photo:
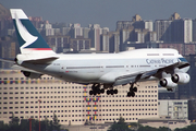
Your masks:
M21 53L15 64L23 74L39 79L48 74L68 82L91 85L90 95L118 94L117 85L130 84L134 97L137 82L158 80L172 91L186 84L189 63L175 49L146 48L119 53L56 53L40 36L22 9L10 9Z

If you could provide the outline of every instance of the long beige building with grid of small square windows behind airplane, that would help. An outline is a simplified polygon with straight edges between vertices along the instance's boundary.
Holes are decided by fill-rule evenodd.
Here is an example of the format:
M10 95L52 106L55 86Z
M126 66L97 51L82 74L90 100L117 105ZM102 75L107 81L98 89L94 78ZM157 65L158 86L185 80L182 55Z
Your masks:
M17 70L0 70L0 120L10 117L22 119L39 117L52 119L66 126L84 124L86 121L106 123L123 117L126 122L158 118L157 82L138 83L135 97L126 97L130 85L118 86L118 95L89 96L90 85L81 85L42 75L29 80Z

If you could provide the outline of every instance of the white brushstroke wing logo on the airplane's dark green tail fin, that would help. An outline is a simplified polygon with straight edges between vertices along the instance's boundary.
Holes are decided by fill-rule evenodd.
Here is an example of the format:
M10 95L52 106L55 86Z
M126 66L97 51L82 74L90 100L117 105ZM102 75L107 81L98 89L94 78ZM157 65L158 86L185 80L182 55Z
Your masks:
M21 23L21 21L19 20L16 14L15 14L15 22L16 22L16 26L17 26L17 29L19 29L21 37L23 38L24 41L26 41L23 46L21 46L21 49L24 49L25 47L27 47L30 44L33 44L34 41L36 41L38 37L33 36L32 34L28 33L28 31Z

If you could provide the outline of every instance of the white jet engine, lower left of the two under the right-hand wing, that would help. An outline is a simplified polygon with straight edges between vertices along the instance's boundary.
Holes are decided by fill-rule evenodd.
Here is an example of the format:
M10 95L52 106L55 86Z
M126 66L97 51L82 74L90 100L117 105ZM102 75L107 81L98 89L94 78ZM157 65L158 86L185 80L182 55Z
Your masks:
M162 86L162 87L169 87L169 88L173 88L173 87L176 87L177 84L176 83L173 83L171 78L163 78L162 80L160 80L159 84Z

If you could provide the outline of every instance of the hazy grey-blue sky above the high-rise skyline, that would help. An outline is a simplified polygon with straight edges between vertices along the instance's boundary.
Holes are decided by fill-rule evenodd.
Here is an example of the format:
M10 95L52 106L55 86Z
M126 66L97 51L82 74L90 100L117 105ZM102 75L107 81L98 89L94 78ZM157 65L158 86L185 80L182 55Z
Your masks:
M115 29L117 21L166 20L174 12L196 19L196 0L0 0L7 9L21 8L28 16L42 16L50 23L100 24Z

